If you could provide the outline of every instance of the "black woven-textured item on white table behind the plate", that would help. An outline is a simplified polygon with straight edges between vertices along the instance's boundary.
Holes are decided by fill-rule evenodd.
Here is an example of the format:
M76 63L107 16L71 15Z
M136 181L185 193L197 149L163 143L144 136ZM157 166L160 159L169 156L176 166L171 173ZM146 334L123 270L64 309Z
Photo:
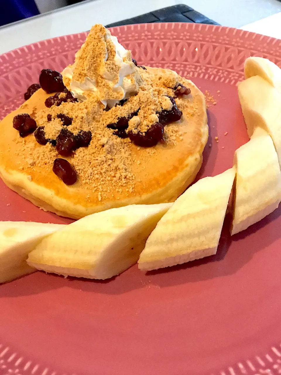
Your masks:
M153 12L145 13L137 17L128 18L127 20L114 22L106 25L106 27L157 22L190 22L219 25L217 22L210 20L203 14L196 12L196 10L192 9L190 6L178 4L154 10Z

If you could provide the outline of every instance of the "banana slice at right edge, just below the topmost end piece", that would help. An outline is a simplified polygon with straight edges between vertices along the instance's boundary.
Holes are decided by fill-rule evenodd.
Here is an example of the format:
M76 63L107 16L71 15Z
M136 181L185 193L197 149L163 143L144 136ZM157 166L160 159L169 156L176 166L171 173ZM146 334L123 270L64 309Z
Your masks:
M238 95L249 137L257 127L265 129L281 166L281 94L256 75L239 83Z

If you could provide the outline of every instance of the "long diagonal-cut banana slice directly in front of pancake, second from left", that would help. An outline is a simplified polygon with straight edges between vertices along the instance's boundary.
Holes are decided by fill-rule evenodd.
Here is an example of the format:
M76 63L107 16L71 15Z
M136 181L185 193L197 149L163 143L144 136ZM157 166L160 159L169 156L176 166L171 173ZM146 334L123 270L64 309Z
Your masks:
M44 239L27 263L64 276L111 278L138 261L147 237L171 205L129 205L83 217Z

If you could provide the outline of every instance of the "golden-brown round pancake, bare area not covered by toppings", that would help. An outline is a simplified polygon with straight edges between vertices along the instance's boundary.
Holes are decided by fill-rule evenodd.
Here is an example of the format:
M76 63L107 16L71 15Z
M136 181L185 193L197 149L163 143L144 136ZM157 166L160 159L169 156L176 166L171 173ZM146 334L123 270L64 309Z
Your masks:
M157 75L165 70L147 68L147 71ZM65 157L78 170L75 184L68 186L54 174L53 161L55 157L60 157L55 155L55 148L51 144L43 146L37 143L34 133L21 138L13 128L15 115L28 113L34 117L40 110L46 109L45 100L54 93L47 94L42 89L0 122L2 180L10 189L43 210L73 219L129 204L175 201L199 171L208 139L204 95L191 81L184 78L179 81L190 88L191 94L176 99L183 115L181 120L165 126L167 141L146 148L138 147L127 139L126 149L132 157L130 181L133 180L133 187L128 181L127 185L124 183L117 188L108 176L108 184L102 190L97 188L99 177L90 174L88 180L80 178L78 163L81 159L85 159L83 163L88 162L88 168L91 168L87 147L79 149L79 159L77 151L73 156ZM40 124L37 123L37 126ZM46 150L50 150L53 158L46 157Z

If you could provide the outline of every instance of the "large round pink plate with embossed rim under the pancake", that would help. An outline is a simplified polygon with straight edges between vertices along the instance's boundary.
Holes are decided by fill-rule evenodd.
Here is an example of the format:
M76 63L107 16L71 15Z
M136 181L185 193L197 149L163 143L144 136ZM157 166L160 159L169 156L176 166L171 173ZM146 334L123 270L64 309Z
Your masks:
M199 177L230 168L248 140L236 89L244 60L256 55L281 66L281 41L200 24L112 33L139 64L174 69L208 90L210 137ZM42 68L72 63L85 37L1 55L0 118L23 102ZM101 282L37 272L1 285L0 374L281 374L280 212L232 238L225 225L217 255L182 266L146 274L133 266ZM71 221L40 211L3 183L0 219Z

